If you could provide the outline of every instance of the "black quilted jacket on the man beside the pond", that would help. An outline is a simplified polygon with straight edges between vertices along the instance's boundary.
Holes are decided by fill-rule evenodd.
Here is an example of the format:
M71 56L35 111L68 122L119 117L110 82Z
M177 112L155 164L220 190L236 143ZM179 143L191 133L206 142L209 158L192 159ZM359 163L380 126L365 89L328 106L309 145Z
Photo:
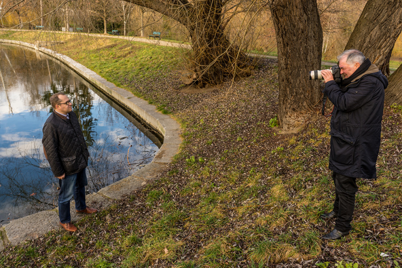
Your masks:
M88 164L89 152L74 112L69 119L53 112L43 126L43 148L55 177L77 173Z

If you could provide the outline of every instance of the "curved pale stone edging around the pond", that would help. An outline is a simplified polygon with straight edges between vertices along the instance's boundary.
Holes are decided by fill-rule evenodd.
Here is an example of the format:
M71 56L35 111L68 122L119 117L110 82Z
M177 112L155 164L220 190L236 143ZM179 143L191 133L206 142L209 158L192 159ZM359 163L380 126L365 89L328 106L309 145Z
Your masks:
M86 196L88 206L105 209L112 201L122 200L130 195L135 189L144 186L154 179L169 164L179 152L182 143L180 137L180 124L169 115L164 115L156 110L156 107L147 101L137 98L133 93L115 86L96 72L75 62L63 54L40 47L40 44L30 44L21 41L0 39L1 44L13 44L34 49L46 54L64 65L68 66L78 75L98 88L108 98L125 109L133 112L136 117L145 122L154 131L164 137L162 146L159 148L152 162L137 170L131 176L115 182ZM82 216L75 213L74 201L70 204L71 221L77 221ZM19 219L11 220L0 228L0 251L6 247L18 245L24 241L43 236L51 230L62 228L59 224L58 208L37 212ZM79 228L79 225L78 225Z

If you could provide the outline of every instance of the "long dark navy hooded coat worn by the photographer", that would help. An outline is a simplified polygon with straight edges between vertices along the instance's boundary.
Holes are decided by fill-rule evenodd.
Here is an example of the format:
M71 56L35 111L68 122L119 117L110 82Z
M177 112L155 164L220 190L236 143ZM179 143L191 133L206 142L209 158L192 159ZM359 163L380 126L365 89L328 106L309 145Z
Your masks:
M384 89L388 80L369 60L365 63L367 67L364 64L359 67L350 78L358 76L350 83L339 87L335 81L329 81L323 93L335 105L329 168L341 175L372 179L377 176Z

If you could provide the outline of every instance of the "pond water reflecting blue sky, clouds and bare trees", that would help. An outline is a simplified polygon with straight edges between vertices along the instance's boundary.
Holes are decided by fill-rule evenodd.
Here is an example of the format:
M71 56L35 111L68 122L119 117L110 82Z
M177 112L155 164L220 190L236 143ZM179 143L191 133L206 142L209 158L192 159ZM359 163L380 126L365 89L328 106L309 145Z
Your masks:
M12 45L0 45L0 59L0 226L58 205L59 180L42 148L42 128L53 112L49 98L56 92L72 101L88 145L87 194L152 161L160 137L75 72Z

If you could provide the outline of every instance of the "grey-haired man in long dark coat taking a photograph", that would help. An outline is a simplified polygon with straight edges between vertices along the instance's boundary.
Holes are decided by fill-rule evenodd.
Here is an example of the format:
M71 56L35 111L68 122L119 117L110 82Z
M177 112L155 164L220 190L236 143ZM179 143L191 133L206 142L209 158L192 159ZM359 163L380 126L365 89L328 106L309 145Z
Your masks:
M336 218L335 228L323 236L339 239L352 229L356 178L376 178L376 161L380 148L384 89L387 78L358 50L338 56L340 83L332 70L322 70L323 93L334 104L331 119L331 152L329 168L335 184L334 209L321 215Z

